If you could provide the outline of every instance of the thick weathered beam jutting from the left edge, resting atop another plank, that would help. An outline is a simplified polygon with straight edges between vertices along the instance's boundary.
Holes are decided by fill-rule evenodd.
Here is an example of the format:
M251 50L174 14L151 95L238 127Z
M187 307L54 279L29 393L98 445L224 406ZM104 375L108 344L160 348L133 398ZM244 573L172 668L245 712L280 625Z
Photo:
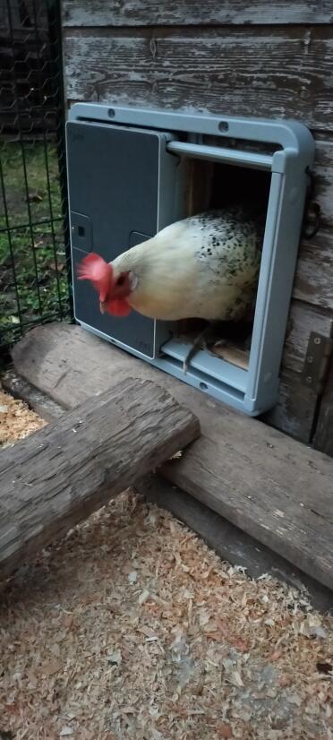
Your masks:
M200 434L149 381L125 381L0 454L0 577Z

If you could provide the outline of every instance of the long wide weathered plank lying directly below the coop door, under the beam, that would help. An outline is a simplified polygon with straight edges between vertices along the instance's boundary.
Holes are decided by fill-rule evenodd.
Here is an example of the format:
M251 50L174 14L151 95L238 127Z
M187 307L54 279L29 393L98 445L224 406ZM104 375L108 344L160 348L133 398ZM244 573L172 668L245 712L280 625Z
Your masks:
M13 349L17 372L67 408L119 377L158 380L201 421L201 439L166 464L170 481L333 588L333 460L237 414L78 326L30 332ZM320 543L320 546L319 546Z

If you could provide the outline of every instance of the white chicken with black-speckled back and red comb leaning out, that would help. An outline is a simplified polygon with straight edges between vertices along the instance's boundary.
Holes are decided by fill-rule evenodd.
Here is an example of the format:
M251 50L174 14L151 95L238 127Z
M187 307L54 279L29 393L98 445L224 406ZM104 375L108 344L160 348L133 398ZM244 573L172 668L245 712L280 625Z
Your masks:
M260 217L239 206L208 211L163 228L109 264L88 254L78 276L98 290L102 312L125 316L134 309L160 321L239 322L254 305L262 227Z

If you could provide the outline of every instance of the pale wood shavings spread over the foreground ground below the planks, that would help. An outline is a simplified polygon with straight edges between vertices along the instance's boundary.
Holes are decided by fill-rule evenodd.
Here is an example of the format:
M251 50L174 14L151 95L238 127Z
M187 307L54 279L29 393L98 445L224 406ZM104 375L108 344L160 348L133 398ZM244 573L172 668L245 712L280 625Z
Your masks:
M332 627L127 491L4 586L0 738L332 740Z

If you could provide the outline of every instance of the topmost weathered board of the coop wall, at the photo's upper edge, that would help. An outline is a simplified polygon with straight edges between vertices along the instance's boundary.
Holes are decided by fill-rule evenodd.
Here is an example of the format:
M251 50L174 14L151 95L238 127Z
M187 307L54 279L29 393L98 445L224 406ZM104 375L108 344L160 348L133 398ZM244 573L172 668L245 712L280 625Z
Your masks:
M273 23L330 23L330 0L282 0L274 5L268 0L63 0L65 26L169 26Z

